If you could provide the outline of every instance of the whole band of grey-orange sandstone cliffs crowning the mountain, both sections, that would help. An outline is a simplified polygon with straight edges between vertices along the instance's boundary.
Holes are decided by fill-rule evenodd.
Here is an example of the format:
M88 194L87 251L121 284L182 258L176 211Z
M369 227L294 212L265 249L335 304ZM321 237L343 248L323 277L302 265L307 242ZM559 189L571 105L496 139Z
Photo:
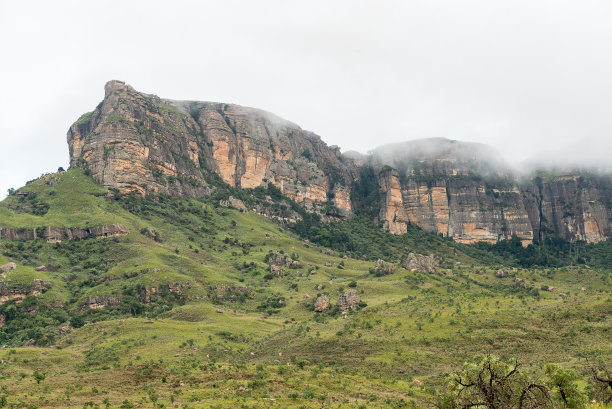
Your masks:
M381 192L376 218L394 234L413 224L462 243L612 237L610 174L525 177L488 146L444 138L342 155L268 112L161 99L121 81L106 84L100 105L70 128L68 144L72 165L123 193L200 197L219 180L272 184L310 211L350 218L362 199L355 183L371 168Z

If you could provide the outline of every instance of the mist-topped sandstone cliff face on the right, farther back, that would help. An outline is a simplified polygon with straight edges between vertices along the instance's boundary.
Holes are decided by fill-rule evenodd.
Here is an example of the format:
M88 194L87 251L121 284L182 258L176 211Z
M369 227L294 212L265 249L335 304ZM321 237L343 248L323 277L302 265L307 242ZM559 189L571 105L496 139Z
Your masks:
M412 148L415 155L422 152ZM587 242L612 237L612 178L576 173L521 181L505 167L487 164L488 158L466 161L448 150L417 157L393 152L390 158L375 151L370 163L382 166L383 226L402 234L412 223L462 243L513 235L524 245L546 237Z

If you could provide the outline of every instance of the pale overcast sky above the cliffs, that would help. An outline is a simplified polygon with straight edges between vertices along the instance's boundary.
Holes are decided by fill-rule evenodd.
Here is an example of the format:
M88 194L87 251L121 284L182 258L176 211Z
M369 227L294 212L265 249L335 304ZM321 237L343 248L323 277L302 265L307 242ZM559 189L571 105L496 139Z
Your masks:
M67 166L110 79L262 108L343 151L441 136L606 160L611 22L609 0L0 0L0 198Z

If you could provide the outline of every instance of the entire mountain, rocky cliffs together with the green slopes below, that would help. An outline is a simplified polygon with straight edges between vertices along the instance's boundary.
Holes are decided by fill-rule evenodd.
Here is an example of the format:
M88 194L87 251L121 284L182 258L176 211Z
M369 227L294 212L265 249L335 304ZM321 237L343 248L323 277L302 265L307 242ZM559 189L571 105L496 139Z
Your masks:
M456 407L447 374L489 352L610 397L583 369L610 367L611 242L463 244L406 200L428 189L452 223L490 200L497 228L499 186L543 219L604 176L521 180L447 140L345 156L262 111L116 81L69 143L68 170L0 202L0 407Z

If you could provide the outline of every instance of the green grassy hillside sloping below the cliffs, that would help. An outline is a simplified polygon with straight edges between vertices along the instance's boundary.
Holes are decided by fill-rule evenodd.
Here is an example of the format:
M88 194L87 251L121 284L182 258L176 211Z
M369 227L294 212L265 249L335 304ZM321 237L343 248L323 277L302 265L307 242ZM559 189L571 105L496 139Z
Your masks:
M516 357L535 379L547 363L575 369L587 392L588 364L610 367L606 269L502 266L431 236L415 246L439 255L439 273L389 259L396 270L377 277L374 260L212 201L108 197L78 169L21 191L48 211L11 196L0 227L121 223L130 234L0 241L0 265L18 264L3 282L52 284L0 306L9 317L0 349L7 407L428 407L447 375L479 353ZM301 266L270 274L271 251ZM334 306L349 288L362 305L343 316ZM329 311L313 311L320 294ZM92 297L122 301L91 309Z

